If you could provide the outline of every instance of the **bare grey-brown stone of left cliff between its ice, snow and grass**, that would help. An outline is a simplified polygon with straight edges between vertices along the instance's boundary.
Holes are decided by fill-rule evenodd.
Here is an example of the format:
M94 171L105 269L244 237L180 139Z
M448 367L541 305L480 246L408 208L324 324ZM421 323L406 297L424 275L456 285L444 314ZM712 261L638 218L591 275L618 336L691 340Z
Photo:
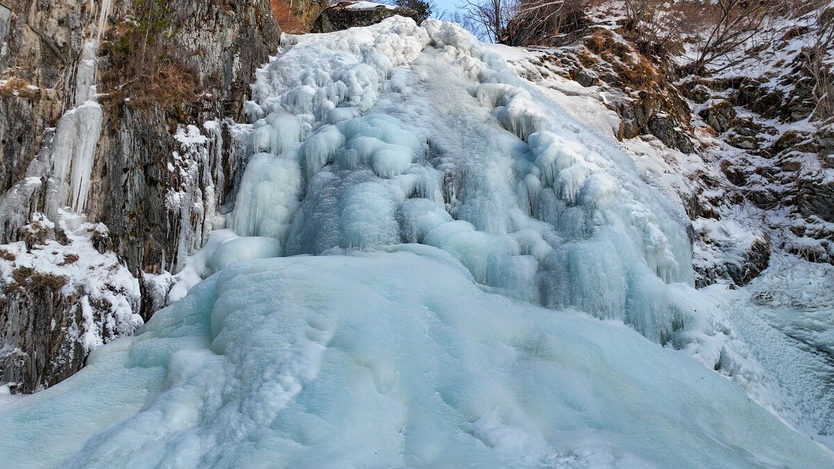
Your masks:
M97 195L88 200L86 214L109 229L93 240L96 250L118 255L140 280L140 289L145 288L143 273L177 270L184 256L208 235L202 228L211 223L207 218L211 214L167 209L169 189L187 187L185 194L194 204L215 209L234 197L232 188L245 161L242 144L229 126L233 120L246 122L249 83L255 69L278 50L281 36L269 0L153 4L165 8L169 31L161 37L179 53L178 67L193 70L198 91L210 98L195 97L175 110L153 103L153 96L148 108L141 109L101 100L103 129L91 171L91 194ZM0 203L12 200L20 214L18 219L0 219L0 244L23 240L20 227L43 210L44 184L26 184L23 178L48 179L51 169L44 162L51 153L49 129L61 117L64 103L74 102L70 78L84 41L98 34L93 28L98 24L99 3L94 11L87 0L20 0L12 5L15 11L0 9L0 37L8 48L8 53L0 54L0 69L13 69L17 78L39 92L32 96L0 92ZM117 18L141 18L133 2L113 2L110 8L108 18L113 23L104 22L103 47L118 39L113 27ZM98 91L107 93L102 78L118 70L112 55L100 55ZM209 120L218 124L214 130L201 129L210 137L209 158L197 162L201 171L188 180L171 177L167 165L172 152L180 150L173 132L182 124L202 125ZM207 185L213 190L203 190ZM13 197L5 197L8 194ZM87 356L77 337L58 333L61 327L50 329L53 321L65 325L78 319L78 296L83 292L62 294L60 289L44 288L0 285L0 350L19 350L0 354L0 382L18 382L16 392L52 386L78 371ZM159 306L149 299L132 305L145 320Z

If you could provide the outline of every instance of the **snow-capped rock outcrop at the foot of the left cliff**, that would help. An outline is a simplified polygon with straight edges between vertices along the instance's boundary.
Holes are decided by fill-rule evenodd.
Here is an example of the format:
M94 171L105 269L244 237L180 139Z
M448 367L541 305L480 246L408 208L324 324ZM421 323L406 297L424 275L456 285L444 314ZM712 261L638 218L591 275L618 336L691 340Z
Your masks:
M58 216L58 223L53 223L36 214L36 220L24 227L28 233L25 241L0 245L3 320L14 324L36 318L29 327L3 329L11 335L2 340L0 381L16 385L27 374L41 376L38 387L50 386L60 381L57 376L77 371L88 352L115 337L132 334L143 324L138 314L138 280L117 255L103 250L108 243L107 227L63 210ZM34 298L38 295L52 295L52 300L44 305ZM58 307L64 304L67 311ZM18 305L28 305L28 309L19 310ZM33 340L38 335L46 338ZM43 363L44 352L38 350L38 343L56 347L60 353ZM33 355L26 361L28 365L14 365L28 355Z

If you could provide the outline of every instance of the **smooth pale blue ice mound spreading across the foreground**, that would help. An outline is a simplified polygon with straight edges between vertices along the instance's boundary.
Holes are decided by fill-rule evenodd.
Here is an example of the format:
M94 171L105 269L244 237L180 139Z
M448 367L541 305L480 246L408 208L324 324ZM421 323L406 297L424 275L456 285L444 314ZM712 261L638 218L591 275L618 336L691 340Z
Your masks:
M685 353L485 293L416 247L214 275L0 407L4 464L831 465Z

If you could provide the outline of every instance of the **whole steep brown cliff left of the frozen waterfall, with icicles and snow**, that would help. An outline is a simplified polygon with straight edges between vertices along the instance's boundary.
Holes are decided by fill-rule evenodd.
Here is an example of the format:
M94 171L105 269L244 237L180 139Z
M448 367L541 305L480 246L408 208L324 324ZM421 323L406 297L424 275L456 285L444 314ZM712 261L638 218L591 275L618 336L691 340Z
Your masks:
M160 304L146 275L182 268L245 164L234 121L246 120L254 70L278 48L269 0L142 5L0 6L0 381L16 391L52 386L95 345L141 324L119 315L153 314ZM138 33L152 39L125 40ZM146 49L162 59L148 60ZM33 236L37 220L58 228ZM85 238L82 224L104 235L91 228ZM70 252L78 243L127 275L103 278L113 295L47 275L64 261L38 256L44 246Z

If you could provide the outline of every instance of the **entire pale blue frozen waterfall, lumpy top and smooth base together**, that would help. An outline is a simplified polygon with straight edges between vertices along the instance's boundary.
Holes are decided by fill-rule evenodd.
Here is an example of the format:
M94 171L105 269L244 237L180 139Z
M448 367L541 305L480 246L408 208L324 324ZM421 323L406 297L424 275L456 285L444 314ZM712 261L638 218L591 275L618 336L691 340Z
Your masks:
M450 23L287 45L216 274L3 406L13 466L834 463L687 356L759 370L592 108Z

